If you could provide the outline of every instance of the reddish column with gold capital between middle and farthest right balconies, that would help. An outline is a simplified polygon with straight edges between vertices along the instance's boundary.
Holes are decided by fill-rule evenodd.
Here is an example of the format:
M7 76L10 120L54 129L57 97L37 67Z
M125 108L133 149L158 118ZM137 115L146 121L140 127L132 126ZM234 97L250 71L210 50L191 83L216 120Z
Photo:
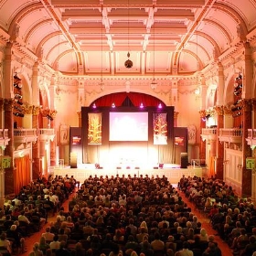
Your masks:
M216 134L216 163L215 163L215 176L219 179L223 179L223 159L224 159L224 144L219 142L219 129L224 126L223 106L216 106L217 112L217 134Z

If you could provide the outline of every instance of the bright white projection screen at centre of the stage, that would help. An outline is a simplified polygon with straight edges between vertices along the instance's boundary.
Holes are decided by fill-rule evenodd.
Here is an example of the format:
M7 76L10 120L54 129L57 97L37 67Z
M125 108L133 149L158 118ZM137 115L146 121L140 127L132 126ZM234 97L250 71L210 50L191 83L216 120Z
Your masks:
M148 141L148 112L110 112L111 142Z

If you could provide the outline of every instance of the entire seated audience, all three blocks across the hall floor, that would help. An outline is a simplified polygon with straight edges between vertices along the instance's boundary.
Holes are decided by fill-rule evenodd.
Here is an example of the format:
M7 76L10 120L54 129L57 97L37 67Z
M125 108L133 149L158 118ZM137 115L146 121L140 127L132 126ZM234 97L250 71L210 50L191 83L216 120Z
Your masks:
M16 198L7 198L0 211L0 247L10 254L14 245L24 249L24 237L44 229L27 255L221 256L215 236L202 228L182 199L187 197L195 204L200 201L204 210L210 205L212 227L227 238L235 255L251 256L256 251L251 199L236 197L217 179L183 176L176 188L165 176L90 176L76 188L69 210L64 211L62 203L75 187L72 176L49 176L23 187ZM45 206L48 201L53 203L50 208ZM48 214L54 220L44 226ZM29 222L23 227L25 218ZM9 234L11 229L16 238Z

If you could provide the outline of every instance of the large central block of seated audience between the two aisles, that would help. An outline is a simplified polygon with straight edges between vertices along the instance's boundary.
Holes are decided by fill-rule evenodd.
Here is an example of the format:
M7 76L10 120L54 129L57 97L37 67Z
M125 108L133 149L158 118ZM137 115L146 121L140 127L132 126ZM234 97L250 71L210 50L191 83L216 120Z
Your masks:
M90 176L29 255L221 255L165 176Z

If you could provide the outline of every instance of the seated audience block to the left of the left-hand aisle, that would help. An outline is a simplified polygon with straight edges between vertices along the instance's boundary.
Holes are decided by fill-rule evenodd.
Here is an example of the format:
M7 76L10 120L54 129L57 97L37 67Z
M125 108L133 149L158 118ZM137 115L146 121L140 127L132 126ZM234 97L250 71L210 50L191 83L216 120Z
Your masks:
M59 210L75 185L73 177L49 176L22 187L14 197L5 197L0 208L0 253L25 252L25 238L44 226L48 214Z

